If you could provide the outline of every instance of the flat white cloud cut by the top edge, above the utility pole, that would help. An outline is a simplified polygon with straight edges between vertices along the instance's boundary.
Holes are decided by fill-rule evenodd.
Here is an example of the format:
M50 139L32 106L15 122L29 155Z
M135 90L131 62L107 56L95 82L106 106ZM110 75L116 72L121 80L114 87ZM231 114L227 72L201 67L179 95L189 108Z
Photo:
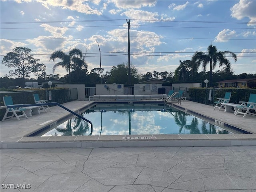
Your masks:
M120 0L112 0L112 3L115 4L117 8L129 9L129 8L141 8L141 7L154 7L156 5L156 1L152 0L129 0L129 1L120 1Z

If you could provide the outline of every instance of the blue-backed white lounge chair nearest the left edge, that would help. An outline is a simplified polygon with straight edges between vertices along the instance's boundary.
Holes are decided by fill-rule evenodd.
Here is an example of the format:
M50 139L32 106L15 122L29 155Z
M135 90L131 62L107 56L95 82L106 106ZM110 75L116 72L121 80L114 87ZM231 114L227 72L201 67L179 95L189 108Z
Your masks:
M11 96L3 97L3 100L4 100L5 106L13 105ZM20 104L18 104L18 105L20 105ZM28 118L26 113L24 112L25 110L26 110L26 108L6 108L6 112L4 114L4 118L2 121L6 120L6 119L12 119L14 116L17 118L18 121L20 121L20 117L22 117L22 116ZM8 113L12 113L12 115L7 116ZM22 114L18 115L17 113L22 113Z

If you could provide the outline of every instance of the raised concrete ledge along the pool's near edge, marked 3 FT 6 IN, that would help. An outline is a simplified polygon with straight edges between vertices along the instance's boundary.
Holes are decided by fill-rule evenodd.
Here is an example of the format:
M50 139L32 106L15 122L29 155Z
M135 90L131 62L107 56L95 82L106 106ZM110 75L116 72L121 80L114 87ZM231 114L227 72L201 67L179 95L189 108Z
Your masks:
M90 102L79 112L88 108ZM174 105L174 104L172 104ZM176 107L176 106L174 106ZM178 106L182 108L181 106ZM183 108L186 111L186 108ZM192 110L190 110L192 111ZM193 111L192 111L193 112ZM196 113L196 112L195 112ZM66 116L69 116L67 114ZM26 134L28 135L28 134ZM74 148L74 147L188 147L188 146L256 146L256 134L160 134L113 136L23 136L17 141L1 141L1 149L15 148Z

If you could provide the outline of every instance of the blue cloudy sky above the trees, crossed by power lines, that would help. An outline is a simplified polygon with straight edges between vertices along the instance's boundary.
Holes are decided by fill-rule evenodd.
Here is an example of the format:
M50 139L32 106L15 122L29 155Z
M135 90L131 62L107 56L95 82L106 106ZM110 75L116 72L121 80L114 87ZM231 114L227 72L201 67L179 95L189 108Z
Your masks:
M102 68L110 71L128 62L127 20L130 60L139 73L174 72L180 60L206 52L211 43L237 54L237 62L230 58L235 74L256 73L255 0L1 0L0 12L0 76L10 70L2 58L15 47L30 48L47 74L53 74L50 54L76 47L90 72L100 67L96 40ZM67 72L57 68L54 74Z

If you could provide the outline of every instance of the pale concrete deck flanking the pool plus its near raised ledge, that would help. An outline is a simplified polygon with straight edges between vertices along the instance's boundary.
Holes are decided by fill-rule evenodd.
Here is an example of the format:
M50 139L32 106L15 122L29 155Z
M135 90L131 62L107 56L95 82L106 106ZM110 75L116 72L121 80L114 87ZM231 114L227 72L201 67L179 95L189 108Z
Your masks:
M93 102L74 101L63 104L66 108L78 112ZM62 137L26 137L49 124L54 124L58 119L70 115L59 106L51 107L51 112L41 112L32 115L28 119L16 118L1 122L1 149L6 148L62 148L62 147L157 147L157 146L256 146L256 118L247 115L234 116L233 113L224 110L213 110L213 106L207 106L191 101L174 104L174 107L190 110L195 113L218 120L219 122L236 126L253 134L177 134L177 135L142 135L155 136L156 139L134 139L138 135L131 135L124 140L126 135L114 136L62 136ZM131 137L131 138L130 138Z

